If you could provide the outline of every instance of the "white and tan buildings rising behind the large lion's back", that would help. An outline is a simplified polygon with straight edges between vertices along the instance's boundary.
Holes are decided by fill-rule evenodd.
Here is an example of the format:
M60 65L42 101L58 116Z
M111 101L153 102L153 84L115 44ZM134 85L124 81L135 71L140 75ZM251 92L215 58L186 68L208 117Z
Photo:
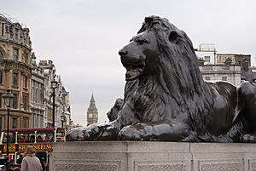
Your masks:
M206 81L226 81L239 85L242 81L255 82L250 54L216 54L212 43L201 43L195 48L202 76Z

